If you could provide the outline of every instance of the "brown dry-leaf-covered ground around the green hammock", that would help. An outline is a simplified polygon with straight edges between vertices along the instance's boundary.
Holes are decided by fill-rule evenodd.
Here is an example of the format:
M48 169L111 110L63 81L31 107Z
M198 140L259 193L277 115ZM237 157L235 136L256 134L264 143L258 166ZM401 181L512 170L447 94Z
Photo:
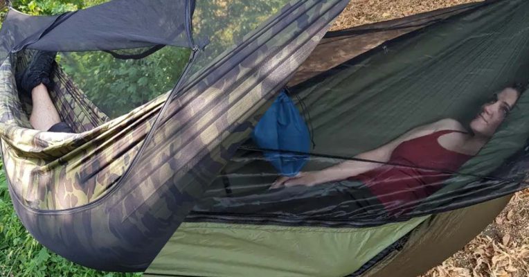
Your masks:
M446 8L471 0L352 0L332 30ZM422 277L529 276L529 190L512 197L487 229Z

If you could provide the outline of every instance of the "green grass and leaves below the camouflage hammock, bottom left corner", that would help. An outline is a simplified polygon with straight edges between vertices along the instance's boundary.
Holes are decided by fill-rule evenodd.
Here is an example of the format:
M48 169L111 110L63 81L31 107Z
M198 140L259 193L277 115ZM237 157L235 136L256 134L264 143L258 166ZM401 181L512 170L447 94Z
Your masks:
M6 183L0 162L0 276L141 276L96 271L76 265L52 253L37 242L22 226Z

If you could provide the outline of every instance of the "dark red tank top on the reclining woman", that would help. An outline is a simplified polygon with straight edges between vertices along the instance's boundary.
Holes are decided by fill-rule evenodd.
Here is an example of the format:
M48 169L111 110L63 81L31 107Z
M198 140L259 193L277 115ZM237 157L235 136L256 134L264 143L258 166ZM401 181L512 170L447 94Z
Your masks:
M350 179L364 182L388 211L416 203L439 190L443 181L451 176L442 171L456 171L472 158L447 150L439 144L439 137L451 132L459 131L442 130L404 141L393 150L388 161L403 166L383 165Z

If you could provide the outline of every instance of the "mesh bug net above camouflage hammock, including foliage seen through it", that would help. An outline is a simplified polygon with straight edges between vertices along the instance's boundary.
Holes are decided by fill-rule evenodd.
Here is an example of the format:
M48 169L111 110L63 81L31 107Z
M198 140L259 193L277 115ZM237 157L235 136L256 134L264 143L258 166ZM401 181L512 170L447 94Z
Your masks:
M104 1L98 1L101 2ZM48 17L30 17L11 10L1 34L6 38L2 49L27 45L39 50L62 51L57 61L69 77L109 118L116 118L170 91L188 63L190 50L166 46L138 60L120 60L115 56L137 56L164 44L192 44L185 30L186 1L136 1L134 5L121 2L108 1ZM207 69L215 57L219 59L223 52L228 53L231 46L287 2L197 1L192 18L193 36L195 44L207 46L190 73ZM125 21L131 14L138 15L133 24ZM95 20L96 25L86 24L87 20ZM19 24L21 21L26 24ZM24 28L15 31L13 26ZM80 26L91 27L78 32ZM44 33L38 39L35 36ZM93 51L96 49L103 51ZM3 53L7 55L6 51Z

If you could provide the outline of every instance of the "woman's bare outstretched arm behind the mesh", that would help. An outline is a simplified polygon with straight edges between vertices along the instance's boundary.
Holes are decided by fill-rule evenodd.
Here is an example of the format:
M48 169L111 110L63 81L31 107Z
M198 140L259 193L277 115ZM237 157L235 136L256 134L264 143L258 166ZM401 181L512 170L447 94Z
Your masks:
M443 119L435 123L428 125L422 125L415 127L408 132L399 136L397 139L386 143L374 150L363 152L355 156L355 159L365 159L369 161L377 161L376 163L370 163L368 161L344 161L338 163L335 166L325 168L319 171L300 172L296 177L280 177L277 179L271 188L278 188L280 186L314 186L317 184L323 184L330 181L338 181L347 179L352 176L359 175L361 173L373 170L382 166L382 163L389 161L393 150L397 148L400 143L409 141L411 139L418 138L420 136L426 136L432 132L436 132L439 129L460 129L460 123L453 119Z

